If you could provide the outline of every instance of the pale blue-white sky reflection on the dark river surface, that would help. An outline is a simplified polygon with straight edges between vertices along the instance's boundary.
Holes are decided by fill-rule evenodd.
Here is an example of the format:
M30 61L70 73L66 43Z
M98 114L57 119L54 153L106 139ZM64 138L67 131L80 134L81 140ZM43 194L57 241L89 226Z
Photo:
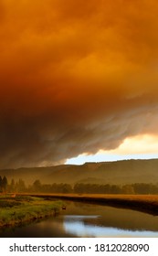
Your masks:
M84 223L85 219L97 218L99 216L65 216L64 229L79 237L158 237L158 232L153 231L107 228Z

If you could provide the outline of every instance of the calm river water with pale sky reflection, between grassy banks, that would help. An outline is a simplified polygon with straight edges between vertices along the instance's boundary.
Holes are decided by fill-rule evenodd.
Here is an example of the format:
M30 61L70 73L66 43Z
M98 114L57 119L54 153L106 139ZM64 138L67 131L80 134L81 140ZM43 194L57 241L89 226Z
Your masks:
M156 237L158 217L132 209L66 202L66 209L53 218L22 227L0 230L0 237Z

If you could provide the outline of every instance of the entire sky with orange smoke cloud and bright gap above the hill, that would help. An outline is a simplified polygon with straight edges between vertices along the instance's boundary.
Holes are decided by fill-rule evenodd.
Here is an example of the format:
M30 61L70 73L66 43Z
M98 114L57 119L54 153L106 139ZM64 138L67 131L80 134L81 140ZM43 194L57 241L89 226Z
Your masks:
M157 157L157 14L157 0L1 0L0 168Z

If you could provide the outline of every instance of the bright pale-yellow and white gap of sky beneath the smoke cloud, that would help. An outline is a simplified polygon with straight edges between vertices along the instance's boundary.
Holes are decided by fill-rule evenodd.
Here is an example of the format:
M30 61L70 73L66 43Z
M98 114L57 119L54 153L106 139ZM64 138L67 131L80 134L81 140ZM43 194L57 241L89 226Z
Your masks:
M66 164L82 165L86 162L107 162L128 159L158 158L158 136L139 135L127 138L114 150L100 150L95 155L82 154L67 160Z

